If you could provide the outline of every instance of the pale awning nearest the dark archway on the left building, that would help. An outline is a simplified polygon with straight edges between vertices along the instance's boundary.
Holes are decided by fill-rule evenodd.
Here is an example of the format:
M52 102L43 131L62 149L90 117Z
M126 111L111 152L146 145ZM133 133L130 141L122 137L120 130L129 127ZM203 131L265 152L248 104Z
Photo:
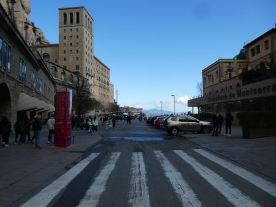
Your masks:
M37 108L39 99L30 97L26 93L21 92L17 101L17 111L19 110L34 110Z

